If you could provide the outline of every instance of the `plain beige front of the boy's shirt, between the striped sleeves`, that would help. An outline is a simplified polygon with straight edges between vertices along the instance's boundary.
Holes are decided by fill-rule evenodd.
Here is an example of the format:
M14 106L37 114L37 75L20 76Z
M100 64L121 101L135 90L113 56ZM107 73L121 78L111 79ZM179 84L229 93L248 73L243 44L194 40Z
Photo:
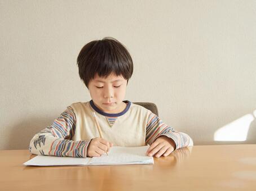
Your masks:
M100 137L92 112L90 102L71 104L76 115L76 130L72 140L91 140ZM137 147L145 145L145 134L150 111L131 103L129 110L117 117L113 126L109 126L104 115L96 112L96 117L103 138L115 146Z

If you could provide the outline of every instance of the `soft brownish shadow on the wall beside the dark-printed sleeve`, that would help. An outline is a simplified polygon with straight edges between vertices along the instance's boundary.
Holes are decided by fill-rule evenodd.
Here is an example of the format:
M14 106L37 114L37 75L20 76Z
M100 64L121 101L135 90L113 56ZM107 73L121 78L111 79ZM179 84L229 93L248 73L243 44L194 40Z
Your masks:
M50 125L53 119L42 119L41 117L27 119L8 127L10 133L1 145L1 149L28 149L32 137Z

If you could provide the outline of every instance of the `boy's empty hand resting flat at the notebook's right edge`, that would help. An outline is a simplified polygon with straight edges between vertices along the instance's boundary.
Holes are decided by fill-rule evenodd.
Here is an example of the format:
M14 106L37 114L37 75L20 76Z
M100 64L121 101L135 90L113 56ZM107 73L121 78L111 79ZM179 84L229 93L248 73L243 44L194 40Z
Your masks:
M174 151L174 148L176 147L173 139L168 138L166 136L158 137L155 142L151 144L151 146L148 148L148 151L146 155L149 157L156 154L156 157L161 157L162 154L164 156L168 156L171 152Z

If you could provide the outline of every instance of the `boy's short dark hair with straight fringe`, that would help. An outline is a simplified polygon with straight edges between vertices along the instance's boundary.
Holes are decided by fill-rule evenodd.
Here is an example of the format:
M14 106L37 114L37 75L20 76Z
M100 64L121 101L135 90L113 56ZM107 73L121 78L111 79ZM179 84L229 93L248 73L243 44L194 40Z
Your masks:
M111 37L87 43L78 54L77 65L80 78L87 88L96 74L104 78L113 72L127 81L133 74L130 53L122 43Z

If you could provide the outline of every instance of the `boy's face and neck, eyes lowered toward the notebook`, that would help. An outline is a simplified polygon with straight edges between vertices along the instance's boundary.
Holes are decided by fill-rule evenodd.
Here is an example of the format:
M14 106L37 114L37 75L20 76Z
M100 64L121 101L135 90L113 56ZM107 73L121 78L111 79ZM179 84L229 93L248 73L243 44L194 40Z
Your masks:
M88 89L94 104L103 112L119 113L122 112L126 104L123 103L126 93L127 80L123 76L115 74L107 78L95 78L89 81Z

